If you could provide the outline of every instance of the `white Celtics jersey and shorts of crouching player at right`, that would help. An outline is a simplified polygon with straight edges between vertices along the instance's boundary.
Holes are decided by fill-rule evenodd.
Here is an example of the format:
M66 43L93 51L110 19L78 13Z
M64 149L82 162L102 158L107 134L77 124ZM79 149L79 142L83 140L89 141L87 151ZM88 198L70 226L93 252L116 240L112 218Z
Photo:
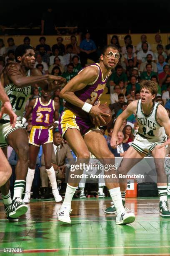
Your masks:
M135 117L138 121L139 129L135 140L130 146L141 153L148 154L148 152L153 151L156 145L160 145L167 140L164 127L156 120L159 104L159 102L154 102L151 113L145 115L142 110L142 102L138 100Z

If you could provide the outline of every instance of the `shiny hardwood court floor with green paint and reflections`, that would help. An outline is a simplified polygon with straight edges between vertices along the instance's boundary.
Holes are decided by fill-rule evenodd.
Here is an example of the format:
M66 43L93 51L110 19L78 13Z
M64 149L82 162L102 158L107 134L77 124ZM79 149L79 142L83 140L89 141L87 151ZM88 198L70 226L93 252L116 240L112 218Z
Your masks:
M20 248L19 255L170 255L170 218L162 218L158 198L128 198L135 212L130 225L116 225L116 215L106 215L110 199L73 200L72 223L58 221L60 203L31 201L18 223L5 219L0 201L0 255L4 248ZM18 253L17 253L18 254Z

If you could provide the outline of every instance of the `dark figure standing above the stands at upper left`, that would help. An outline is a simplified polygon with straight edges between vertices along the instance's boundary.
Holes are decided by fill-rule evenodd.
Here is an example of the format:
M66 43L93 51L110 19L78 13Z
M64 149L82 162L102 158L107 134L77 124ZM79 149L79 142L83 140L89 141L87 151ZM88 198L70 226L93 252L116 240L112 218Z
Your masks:
M56 32L60 33L55 26L55 13L49 6L41 18L41 35L54 35Z

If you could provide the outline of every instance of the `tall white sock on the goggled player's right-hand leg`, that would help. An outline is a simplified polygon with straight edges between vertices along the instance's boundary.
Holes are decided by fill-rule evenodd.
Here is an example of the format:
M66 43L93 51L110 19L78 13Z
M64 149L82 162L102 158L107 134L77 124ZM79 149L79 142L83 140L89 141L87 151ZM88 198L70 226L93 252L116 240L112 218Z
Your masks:
M115 205L117 214L119 212L124 212L125 209L122 205L122 196L120 192L120 187L115 187L113 189L109 189L110 197L112 198L112 202Z

